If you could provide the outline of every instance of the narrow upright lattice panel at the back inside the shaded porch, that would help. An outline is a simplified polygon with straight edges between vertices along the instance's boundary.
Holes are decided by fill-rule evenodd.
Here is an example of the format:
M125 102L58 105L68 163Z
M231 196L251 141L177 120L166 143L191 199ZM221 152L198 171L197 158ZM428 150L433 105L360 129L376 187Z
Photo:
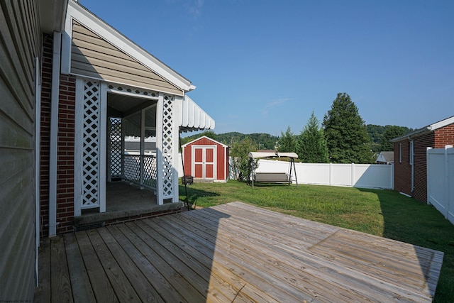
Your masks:
M112 178L121 177L121 119L109 119L110 171Z

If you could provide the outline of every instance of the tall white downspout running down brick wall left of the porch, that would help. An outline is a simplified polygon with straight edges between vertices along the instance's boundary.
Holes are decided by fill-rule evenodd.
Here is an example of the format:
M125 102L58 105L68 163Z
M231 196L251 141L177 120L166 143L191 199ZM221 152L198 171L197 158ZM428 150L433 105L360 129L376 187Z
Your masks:
M57 234L57 136L61 46L62 33L54 32L52 51L52 90L50 94L49 236L55 236Z

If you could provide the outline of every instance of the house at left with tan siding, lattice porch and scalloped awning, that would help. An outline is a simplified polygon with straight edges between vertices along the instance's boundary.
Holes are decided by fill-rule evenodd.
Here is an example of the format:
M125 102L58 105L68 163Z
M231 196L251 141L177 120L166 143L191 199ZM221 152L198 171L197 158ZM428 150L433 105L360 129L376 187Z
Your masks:
M188 79L74 0L1 1L0 80L0 301L31 302L40 236L105 211L125 136L155 136L156 156L135 157L177 205L179 132L214 121Z

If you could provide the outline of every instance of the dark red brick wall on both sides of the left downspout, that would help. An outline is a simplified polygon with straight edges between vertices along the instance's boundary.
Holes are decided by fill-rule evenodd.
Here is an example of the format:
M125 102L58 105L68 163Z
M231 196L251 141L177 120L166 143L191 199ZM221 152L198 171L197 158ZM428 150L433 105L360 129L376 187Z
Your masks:
M52 35L43 35L41 93L40 219L41 235L49 232L50 108L52 89ZM57 134L57 233L74 226L74 110L76 79L60 75Z

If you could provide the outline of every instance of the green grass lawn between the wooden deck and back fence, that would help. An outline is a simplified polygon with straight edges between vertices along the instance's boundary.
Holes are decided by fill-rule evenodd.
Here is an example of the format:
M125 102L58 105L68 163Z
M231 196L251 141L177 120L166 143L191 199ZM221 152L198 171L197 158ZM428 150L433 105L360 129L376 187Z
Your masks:
M391 190L316 185L194 183L187 187L197 207L240 201L283 214L372 233L445 253L434 302L454 302L454 226L433 206ZM184 186L179 198L186 200Z

